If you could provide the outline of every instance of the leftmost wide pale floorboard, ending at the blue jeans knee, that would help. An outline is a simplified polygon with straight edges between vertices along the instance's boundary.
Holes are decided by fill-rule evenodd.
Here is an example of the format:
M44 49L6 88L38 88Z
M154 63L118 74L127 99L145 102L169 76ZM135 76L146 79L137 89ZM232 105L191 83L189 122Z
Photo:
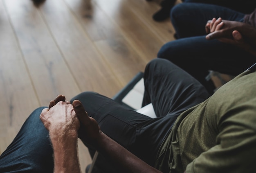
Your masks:
M13 140L27 116L40 106L7 9L0 1L0 151Z

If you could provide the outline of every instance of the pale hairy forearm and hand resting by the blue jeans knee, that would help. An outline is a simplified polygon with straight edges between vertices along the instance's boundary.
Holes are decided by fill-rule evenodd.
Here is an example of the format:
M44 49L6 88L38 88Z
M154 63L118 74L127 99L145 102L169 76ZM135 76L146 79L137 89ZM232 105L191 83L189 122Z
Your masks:
M80 173L77 153L79 119L73 105L58 95L50 101L49 109L40 114L45 128L49 131L54 155L54 173Z

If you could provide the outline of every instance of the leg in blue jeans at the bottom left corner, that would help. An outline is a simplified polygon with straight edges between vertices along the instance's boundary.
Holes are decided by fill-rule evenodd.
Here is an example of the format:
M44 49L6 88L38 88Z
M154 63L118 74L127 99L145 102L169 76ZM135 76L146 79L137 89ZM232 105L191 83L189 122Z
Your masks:
M53 151L49 133L39 115L45 107L31 113L13 142L0 156L0 172L53 172Z

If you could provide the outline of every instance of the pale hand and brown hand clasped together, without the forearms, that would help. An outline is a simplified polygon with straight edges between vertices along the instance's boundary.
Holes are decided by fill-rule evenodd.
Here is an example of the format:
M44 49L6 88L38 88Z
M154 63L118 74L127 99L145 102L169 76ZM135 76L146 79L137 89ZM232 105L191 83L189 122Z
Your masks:
M98 123L89 117L80 101L75 100L71 104L65 101L65 96L58 95L50 101L49 108L42 110L40 119L49 131L50 138L74 138L78 137L79 128L89 144L97 142L101 133ZM83 124L83 126L81 126Z

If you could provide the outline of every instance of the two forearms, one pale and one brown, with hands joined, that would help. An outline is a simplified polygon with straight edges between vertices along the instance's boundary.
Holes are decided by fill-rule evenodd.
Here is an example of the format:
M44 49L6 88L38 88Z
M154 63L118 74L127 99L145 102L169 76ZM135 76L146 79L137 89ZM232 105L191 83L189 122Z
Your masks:
M117 166L119 172L161 173L106 136L78 100L71 105L70 102L65 101L65 96L59 95L50 102L49 109L43 109L40 119L49 131L52 141L55 173L81 172L77 155L80 123L83 124L82 130L86 135L85 142L95 146L102 155Z

